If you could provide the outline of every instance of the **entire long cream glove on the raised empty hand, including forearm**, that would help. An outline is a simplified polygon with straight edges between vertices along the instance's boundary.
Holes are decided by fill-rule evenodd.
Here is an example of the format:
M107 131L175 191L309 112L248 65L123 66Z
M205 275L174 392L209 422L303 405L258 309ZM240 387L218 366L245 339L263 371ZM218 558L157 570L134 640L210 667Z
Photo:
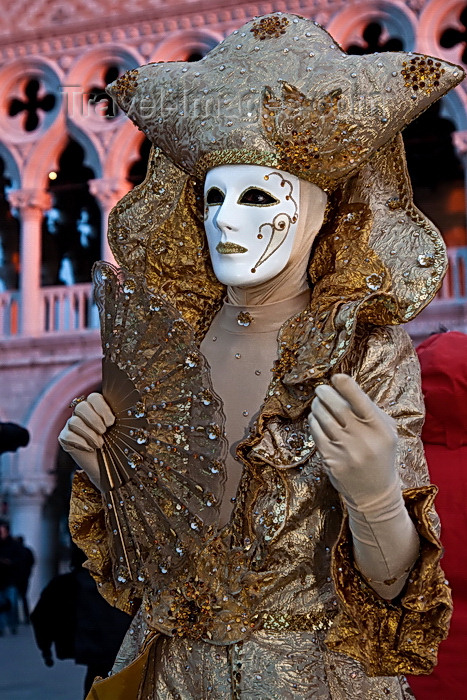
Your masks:
M419 538L395 466L396 422L346 374L316 389L310 429L349 514L355 562L388 600L402 590Z

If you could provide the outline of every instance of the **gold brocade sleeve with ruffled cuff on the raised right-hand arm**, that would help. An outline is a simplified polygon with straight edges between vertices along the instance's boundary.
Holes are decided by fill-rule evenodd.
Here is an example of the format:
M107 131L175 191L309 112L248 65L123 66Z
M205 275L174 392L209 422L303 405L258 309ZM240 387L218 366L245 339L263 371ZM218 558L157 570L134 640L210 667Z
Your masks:
M430 673L446 637L451 596L440 566L439 521L433 508L420 432L424 408L420 366L400 327L374 329L355 375L364 391L397 422L397 466L407 510L420 537L420 555L400 596L385 601L356 569L347 518L333 552L341 612L328 646L362 662L368 675Z

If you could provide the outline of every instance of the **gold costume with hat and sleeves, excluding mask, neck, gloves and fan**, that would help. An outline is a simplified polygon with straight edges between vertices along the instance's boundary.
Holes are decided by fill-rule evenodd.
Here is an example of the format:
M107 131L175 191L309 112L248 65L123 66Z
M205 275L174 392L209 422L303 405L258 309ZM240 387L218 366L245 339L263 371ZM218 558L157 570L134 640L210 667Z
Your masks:
M131 566L154 565L150 580L129 581L107 495L75 478L73 537L102 594L137 611L115 675L91 697L397 699L410 697L400 674L435 663L450 597L419 440L418 363L398 324L433 297L446 260L413 205L399 131L461 79L457 66L425 56L347 56L312 21L275 13L199 63L150 64L110 88L156 146L145 182L111 214L115 257L198 344L224 294L204 242L206 170L270 165L324 188L331 205L309 268L310 305L282 327L265 402L238 448L244 475L230 524L211 527L167 574L157 523L151 540L130 479L112 503L134 504ZM206 108L213 97L218 111ZM342 371L398 424L421 551L390 602L354 566L345 513L307 430L314 387Z

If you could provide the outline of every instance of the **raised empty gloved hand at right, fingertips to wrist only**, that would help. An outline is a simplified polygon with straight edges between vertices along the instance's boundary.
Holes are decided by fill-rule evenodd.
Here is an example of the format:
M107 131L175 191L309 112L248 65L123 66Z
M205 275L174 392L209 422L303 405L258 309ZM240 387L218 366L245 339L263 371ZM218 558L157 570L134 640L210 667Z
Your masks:
M311 405L310 429L329 479L345 501L374 510L396 492L397 426L347 374L320 385Z

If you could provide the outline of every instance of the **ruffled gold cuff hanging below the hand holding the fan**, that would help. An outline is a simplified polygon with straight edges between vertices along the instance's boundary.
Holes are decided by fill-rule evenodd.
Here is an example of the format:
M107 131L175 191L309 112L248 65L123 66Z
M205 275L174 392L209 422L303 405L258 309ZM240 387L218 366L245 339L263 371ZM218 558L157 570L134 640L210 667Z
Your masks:
M117 589L114 585L102 494L83 471L76 472L73 479L69 525L73 542L87 556L85 567L96 581L100 594L111 605L134 615L140 604L138 591L129 587Z

